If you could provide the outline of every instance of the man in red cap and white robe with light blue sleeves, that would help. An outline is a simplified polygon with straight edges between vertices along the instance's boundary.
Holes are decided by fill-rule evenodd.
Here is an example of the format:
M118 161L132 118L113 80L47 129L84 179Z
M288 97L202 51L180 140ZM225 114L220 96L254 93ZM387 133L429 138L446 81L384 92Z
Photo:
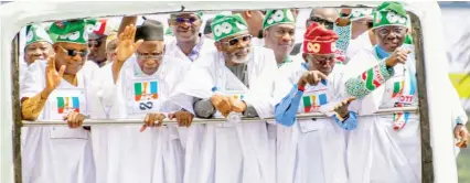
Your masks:
M303 40L303 61L279 68L275 82L278 182L348 182L345 164L346 130L356 126L349 98L340 100L341 62L337 61L338 35L312 23ZM338 64L337 64L338 62ZM332 118L297 120L296 114L334 110ZM334 118L334 119L333 119Z

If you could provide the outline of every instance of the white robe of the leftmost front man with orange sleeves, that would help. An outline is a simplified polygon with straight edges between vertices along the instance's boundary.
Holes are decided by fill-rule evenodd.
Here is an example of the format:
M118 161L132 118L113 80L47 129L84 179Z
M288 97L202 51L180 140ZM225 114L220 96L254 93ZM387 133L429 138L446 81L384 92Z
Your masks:
M46 61L36 61L30 65L21 84L21 98L33 97L45 87ZM42 114L38 119L62 119L58 98L72 98L68 107L78 105L81 114L87 115L89 86L98 66L92 62L77 73L78 86L62 79L58 87L49 96ZM79 104L76 104L77 97ZM67 107L67 106L65 106ZM68 127L30 127L22 151L22 171L24 183L94 183L95 165L93 162L89 132L83 128Z

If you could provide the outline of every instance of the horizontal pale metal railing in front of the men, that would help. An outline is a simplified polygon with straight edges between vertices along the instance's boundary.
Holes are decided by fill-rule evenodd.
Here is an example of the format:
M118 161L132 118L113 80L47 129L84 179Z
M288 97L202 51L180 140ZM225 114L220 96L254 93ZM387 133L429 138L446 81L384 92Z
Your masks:
M397 108L386 108L378 109L374 115L389 115L394 112L418 112L418 107L397 107ZM297 115L297 119L321 119L328 118L325 115L320 112L310 112L310 114L301 114ZM266 121L266 120L275 120L275 118L242 118L242 122L253 122L253 121ZM227 120L225 118L213 118L213 119L201 119L194 118L192 123L224 123ZM177 123L175 120L163 120L163 123L171 125ZM66 126L63 120L36 120L36 121L25 121L23 120L23 127L43 127L43 126ZM102 125L142 125L142 119L86 119L83 122L84 126L102 126Z

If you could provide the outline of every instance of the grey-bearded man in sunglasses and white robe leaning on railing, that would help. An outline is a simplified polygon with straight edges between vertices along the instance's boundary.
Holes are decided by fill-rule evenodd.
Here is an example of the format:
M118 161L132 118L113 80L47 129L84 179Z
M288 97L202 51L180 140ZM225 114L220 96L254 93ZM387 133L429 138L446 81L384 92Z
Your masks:
M252 35L239 14L217 14L211 26L217 51L193 63L172 101L200 118L273 116L271 77L277 69L273 51L250 45ZM182 97L194 103L180 101ZM199 173L191 183L275 182L275 152L268 151L273 146L265 121L209 122L201 133L201 155L191 168Z

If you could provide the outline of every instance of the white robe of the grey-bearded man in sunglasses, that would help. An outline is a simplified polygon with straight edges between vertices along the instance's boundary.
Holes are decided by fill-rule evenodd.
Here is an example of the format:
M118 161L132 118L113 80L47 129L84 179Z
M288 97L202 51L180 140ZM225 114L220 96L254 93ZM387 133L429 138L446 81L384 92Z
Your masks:
M261 118L273 116L275 55L264 47L253 46L250 51L247 63L249 89L225 66L222 53L213 51L194 62L171 101L193 111L192 100L188 97L210 98L213 87L221 93L232 88L246 92L245 101L253 105ZM188 134L192 141L186 142L186 154L193 155L185 159L184 182L275 182L275 152L269 151L269 147L274 147L269 142L274 141L269 140L265 121L204 125L190 128Z

